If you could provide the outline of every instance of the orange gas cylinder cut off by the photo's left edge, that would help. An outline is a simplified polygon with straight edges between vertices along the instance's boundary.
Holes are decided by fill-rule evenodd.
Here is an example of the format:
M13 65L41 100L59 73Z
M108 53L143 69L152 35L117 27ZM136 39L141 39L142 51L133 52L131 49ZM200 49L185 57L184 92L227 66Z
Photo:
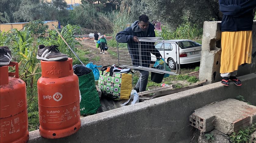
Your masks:
M15 66L15 73L8 73ZM17 62L0 67L0 142L28 141L26 84L19 79ZM15 77L13 77L15 76Z

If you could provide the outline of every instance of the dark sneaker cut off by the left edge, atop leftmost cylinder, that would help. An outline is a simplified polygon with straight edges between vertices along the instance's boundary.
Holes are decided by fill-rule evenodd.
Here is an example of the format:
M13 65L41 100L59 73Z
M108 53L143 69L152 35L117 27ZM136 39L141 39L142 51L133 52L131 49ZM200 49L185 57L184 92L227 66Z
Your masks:
M12 60L11 51L7 46L0 47L0 66L9 65Z

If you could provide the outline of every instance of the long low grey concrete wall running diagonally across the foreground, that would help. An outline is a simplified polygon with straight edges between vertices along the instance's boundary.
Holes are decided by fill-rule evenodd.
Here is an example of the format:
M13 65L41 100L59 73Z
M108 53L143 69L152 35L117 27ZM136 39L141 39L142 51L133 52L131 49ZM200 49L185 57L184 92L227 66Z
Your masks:
M45 139L30 132L29 143L171 142L189 143L189 116L215 101L245 97L256 104L256 74L240 77L241 87L212 83L203 87L144 101L135 105L81 118L80 131L66 138Z

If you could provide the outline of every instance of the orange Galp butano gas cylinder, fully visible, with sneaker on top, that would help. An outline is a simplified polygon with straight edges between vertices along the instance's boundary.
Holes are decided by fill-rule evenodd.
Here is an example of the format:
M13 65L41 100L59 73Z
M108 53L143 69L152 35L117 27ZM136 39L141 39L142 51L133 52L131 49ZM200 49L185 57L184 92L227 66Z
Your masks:
M39 132L44 138L62 138L81 127L79 83L72 59L41 61L42 77L37 81Z

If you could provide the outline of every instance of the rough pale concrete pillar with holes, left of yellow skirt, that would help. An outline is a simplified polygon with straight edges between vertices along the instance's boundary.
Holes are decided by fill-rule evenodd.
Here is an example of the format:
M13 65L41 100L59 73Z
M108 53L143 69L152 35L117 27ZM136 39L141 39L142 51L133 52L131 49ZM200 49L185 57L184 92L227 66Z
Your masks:
M220 21L205 21L199 79L214 83L220 81L221 31Z

